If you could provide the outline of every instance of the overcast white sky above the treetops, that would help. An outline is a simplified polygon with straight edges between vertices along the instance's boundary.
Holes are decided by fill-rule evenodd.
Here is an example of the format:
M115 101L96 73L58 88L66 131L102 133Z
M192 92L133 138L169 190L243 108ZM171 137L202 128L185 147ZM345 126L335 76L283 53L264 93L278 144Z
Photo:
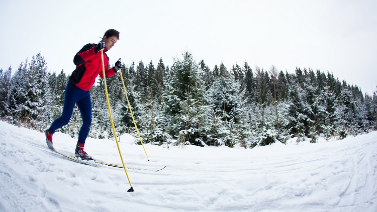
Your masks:
M377 86L377 1L19 1L0 0L0 68L13 71L38 52L48 70L70 74L73 57L106 30L120 31L108 52L157 66L190 51L213 69L250 67L332 72L363 92Z

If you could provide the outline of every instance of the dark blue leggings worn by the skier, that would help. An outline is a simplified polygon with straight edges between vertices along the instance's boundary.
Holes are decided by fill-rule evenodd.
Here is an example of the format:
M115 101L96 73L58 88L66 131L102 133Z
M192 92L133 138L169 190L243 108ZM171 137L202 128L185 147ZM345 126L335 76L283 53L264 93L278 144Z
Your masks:
M78 133L78 142L85 144L85 139L89 134L91 125L91 100L90 92L76 87L74 84L67 83L65 87L63 113L52 123L50 127L51 133L57 129L67 125L71 119L74 105L77 104L80 110L82 125Z

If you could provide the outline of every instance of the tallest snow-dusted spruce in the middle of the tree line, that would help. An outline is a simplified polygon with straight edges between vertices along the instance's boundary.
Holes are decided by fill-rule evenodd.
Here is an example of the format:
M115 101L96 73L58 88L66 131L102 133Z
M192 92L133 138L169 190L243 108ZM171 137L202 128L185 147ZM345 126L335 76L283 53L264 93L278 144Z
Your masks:
M171 116L171 135L178 143L202 146L206 140L206 124L210 119L209 107L205 105L203 94L203 72L189 52L183 59L174 59L173 68L166 85L165 105L169 105L167 115Z

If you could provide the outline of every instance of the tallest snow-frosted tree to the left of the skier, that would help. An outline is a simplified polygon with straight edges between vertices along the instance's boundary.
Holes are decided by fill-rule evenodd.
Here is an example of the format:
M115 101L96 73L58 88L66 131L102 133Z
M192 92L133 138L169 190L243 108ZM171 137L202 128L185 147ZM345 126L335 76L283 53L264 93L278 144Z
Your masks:
M11 79L9 107L13 123L42 131L51 116L46 62L39 52L30 64L20 64Z

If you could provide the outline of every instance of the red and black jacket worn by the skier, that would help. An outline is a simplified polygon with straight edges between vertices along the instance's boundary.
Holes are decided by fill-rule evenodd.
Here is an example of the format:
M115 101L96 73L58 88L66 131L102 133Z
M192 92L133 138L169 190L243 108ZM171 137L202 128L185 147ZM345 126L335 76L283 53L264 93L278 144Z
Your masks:
M97 44L94 43L86 44L73 58L76 69L72 72L69 82L83 90L90 90L90 87L96 82L98 75L104 78L102 73L101 52L95 53L94 49L96 45ZM105 74L107 77L111 77L116 72L114 72L114 67L109 68L109 57L105 53L106 51L105 48Z

